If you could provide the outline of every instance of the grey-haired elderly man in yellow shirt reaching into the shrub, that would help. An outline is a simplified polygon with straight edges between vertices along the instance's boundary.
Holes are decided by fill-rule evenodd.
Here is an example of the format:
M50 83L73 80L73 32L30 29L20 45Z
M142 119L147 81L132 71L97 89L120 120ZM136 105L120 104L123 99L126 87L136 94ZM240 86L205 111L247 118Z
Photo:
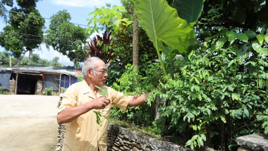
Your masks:
M128 106L145 103L149 93L127 97L104 86L108 76L107 67L97 57L86 59L82 73L85 80L72 84L65 91L58 109L58 124L67 123L63 151L107 151L108 120L101 117L102 126L98 125L93 111L100 111L103 116L110 117L111 105L127 110ZM95 86L108 93L104 95Z

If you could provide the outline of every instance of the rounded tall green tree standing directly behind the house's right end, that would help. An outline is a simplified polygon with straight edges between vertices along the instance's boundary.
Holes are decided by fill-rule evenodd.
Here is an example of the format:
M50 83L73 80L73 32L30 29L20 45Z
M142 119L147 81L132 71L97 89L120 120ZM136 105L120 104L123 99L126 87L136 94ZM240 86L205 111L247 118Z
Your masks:
M51 17L49 29L46 31L47 44L54 50L68 56L74 62L82 62L85 58L85 41L88 37L86 29L70 23L71 16L66 10L59 11ZM61 20L61 21L58 21Z

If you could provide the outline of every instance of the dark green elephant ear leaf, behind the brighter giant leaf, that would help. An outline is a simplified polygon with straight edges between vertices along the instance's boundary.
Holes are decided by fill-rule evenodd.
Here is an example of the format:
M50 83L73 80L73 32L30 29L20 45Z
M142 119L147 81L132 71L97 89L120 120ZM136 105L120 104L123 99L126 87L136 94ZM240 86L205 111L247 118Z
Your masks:
M171 7L177 9L178 16L188 24L195 23L203 11L203 0L174 0Z

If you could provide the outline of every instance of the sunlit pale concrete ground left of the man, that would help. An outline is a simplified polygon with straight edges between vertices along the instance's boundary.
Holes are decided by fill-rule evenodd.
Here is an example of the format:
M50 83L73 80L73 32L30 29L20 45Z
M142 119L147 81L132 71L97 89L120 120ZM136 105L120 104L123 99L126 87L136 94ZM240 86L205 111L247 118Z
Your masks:
M54 151L58 96L0 95L0 151Z

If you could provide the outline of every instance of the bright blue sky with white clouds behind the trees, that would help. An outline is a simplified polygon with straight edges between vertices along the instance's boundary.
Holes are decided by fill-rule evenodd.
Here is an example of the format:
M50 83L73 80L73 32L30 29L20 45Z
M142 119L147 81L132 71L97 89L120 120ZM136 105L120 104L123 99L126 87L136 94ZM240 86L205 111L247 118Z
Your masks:
M53 14L56 14L60 10L66 9L68 13L70 13L72 19L70 22L87 25L86 19L90 18L88 14L94 11L94 6L101 7L105 6L105 3L111 3L111 5L121 5L120 0L43 0L37 2L36 9L39 10L41 16L44 18L50 18ZM16 4L16 1L14 1ZM6 9L10 10L10 7L6 7ZM45 27L48 28L49 21L48 19L45 20ZM5 23L0 20L0 29L5 27ZM86 27L86 26L81 26ZM100 33L101 34L101 33ZM101 34L102 35L102 34ZM41 44L41 50L35 49L33 53L37 53L43 59L52 60L54 57L58 56L59 62L65 66L73 66L74 64L67 58L67 56L63 56L53 50L51 47L50 49L46 49L44 44ZM0 51L4 51L4 48L0 47ZM29 53L26 53L25 56L29 57ZM63 58L63 59L62 59Z

